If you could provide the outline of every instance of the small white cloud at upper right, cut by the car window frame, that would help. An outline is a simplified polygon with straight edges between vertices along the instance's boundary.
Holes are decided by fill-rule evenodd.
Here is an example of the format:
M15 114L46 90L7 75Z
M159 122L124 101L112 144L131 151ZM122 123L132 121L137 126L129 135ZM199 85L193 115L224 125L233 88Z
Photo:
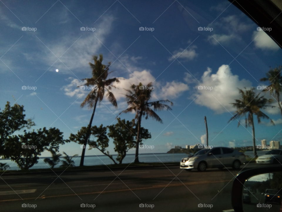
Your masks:
M256 38L256 39L255 39ZM268 36L263 30L254 31L253 33L254 45L259 49L278 50L280 47Z

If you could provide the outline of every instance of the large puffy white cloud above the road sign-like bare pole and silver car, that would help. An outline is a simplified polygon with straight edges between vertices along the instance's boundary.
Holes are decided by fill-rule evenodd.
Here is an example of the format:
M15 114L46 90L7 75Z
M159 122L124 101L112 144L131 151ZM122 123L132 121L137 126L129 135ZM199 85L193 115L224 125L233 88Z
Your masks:
M216 74L211 73L212 69L208 68L201 82L196 86L195 96L199 95L195 99L196 104L208 107L217 113L234 111L230 103L240 97L237 88L251 87L251 82L245 79L239 80L239 76L233 75L228 65L221 65ZM198 90L198 86L212 87L212 90Z

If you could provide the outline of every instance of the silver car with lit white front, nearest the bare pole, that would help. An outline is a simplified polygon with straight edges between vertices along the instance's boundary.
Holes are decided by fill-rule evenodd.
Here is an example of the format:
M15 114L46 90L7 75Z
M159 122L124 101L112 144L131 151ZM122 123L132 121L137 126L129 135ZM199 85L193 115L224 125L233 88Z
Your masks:
M237 150L228 147L214 147L202 149L193 156L182 158L180 168L187 171L197 169L205 171L207 168L232 167L239 169L241 164L246 162L246 156Z

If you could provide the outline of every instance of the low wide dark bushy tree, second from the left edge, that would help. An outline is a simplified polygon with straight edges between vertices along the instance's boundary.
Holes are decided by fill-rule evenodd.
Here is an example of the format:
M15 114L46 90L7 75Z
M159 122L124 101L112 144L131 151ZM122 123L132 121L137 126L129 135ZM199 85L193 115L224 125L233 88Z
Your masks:
M38 163L38 155L44 150L58 151L59 145L64 144L62 132L56 128L26 132L24 135L13 135L7 139L7 156L14 160L19 168L28 169Z

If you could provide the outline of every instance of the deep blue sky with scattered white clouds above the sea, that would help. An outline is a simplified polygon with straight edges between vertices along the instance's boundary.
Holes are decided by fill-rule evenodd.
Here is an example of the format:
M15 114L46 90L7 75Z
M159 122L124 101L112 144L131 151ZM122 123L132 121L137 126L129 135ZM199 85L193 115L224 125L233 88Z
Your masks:
M266 85L259 79L270 66L281 65L282 51L229 1L0 4L0 107L3 109L6 101L24 105L26 116L34 118L34 129L58 127L68 138L89 123L91 111L80 108L87 90L77 86L83 84L81 79L91 77L88 62L92 55L103 54L104 64L112 62L110 77L122 80L114 90L118 108L104 98L93 125L116 123L116 115L127 107L123 88L153 82L152 99L169 99L174 106L172 111L158 112L163 124L150 118L142 120L142 126L152 134L145 144L155 148L140 153L162 153L174 145L203 142L204 116L210 145L251 145L250 127L237 127L237 121L228 123L234 112L230 103L239 97L238 87ZM81 27L92 31L81 31ZM154 30L140 31L140 27ZM200 31L199 27L208 30ZM36 90L22 90L22 86ZM199 90L198 86L212 90ZM273 104L277 105L275 100ZM264 112L276 125L270 126L269 120L256 122L256 142L281 140L278 109ZM120 117L131 120L134 114ZM108 150L114 153L112 141ZM81 154L75 143L62 146L60 151ZM93 154L100 152L86 151L86 155Z

